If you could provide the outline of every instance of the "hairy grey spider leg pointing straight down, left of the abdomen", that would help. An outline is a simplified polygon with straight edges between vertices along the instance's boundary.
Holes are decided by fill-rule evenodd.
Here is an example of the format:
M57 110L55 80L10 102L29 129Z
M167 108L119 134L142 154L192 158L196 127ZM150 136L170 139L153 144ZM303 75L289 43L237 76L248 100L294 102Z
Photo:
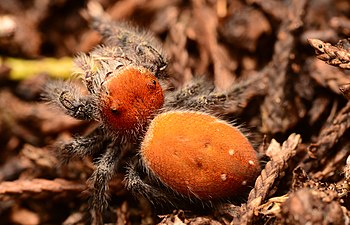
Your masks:
M116 140L111 141L106 152L95 163L96 170L89 178L91 189L91 206L96 213L102 213L108 206L108 182L118 166L121 146Z

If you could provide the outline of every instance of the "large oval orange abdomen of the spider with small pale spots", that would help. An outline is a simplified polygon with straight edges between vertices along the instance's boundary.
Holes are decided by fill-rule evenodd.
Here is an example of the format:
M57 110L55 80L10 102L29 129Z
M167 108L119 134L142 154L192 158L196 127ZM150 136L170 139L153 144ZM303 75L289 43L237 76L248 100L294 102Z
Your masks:
M199 112L158 115L140 151L166 186L200 199L239 195L260 171L256 152L236 127Z

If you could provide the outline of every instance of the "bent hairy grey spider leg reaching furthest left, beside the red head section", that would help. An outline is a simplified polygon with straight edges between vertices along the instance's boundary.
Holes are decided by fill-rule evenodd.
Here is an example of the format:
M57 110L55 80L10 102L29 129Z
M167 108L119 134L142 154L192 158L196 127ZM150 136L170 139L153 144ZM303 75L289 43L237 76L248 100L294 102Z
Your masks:
M99 120L97 101L84 96L78 85L63 80L49 81L43 90L43 100L58 106L65 114L79 120Z

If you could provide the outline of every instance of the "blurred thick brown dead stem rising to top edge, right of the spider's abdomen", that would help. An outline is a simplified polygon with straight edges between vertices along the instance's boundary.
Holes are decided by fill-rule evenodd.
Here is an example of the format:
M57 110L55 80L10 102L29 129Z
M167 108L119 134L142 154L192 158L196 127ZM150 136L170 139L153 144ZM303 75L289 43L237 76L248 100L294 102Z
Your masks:
M302 19L306 1L290 1L288 15L284 18L277 34L274 56L266 68L269 89L261 106L262 130L267 133L285 132L299 120L292 83L293 50L297 30Z

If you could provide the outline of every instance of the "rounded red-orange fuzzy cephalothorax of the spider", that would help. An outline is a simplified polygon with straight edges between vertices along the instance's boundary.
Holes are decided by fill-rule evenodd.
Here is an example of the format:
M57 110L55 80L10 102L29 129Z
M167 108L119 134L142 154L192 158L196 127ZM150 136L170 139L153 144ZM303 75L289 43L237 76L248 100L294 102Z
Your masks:
M148 70L126 67L111 74L101 94L102 114L121 133L137 131L162 107L164 95L157 78Z

